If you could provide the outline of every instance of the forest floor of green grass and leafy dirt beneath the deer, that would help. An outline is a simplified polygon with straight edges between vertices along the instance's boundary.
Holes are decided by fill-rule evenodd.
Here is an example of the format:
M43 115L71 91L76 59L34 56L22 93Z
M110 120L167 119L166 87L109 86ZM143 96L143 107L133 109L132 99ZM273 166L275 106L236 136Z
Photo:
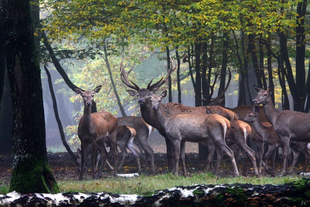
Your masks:
M142 173L139 173L139 177L135 178L120 178L113 177L113 173L107 172L106 168L102 173L100 180L93 181L91 179L91 170L88 170L84 175L84 181L78 181L79 172L77 172L77 166L72 158L66 152L59 153L47 153L50 168L52 169L54 176L60 186L60 191L109 191L113 193L141 193L144 191L165 189L178 185L194 185L194 184L225 184L225 183L253 183L253 184L281 184L291 182L301 178L297 175L297 172L302 170L304 163L297 163L294 169L294 173L285 177L271 177L270 175L263 173L259 176L254 176L252 163L249 162L247 176L246 177L234 177L232 164L229 159L224 159L221 162L219 176L215 177L210 173L205 173L204 168L206 161L199 160L197 153L188 153L187 160L185 161L187 177L173 176L167 171L166 154L155 153L155 169L156 173L150 173L150 166L144 166L144 154L140 153L140 163ZM119 153L119 161L122 158L122 153ZM289 164L291 164L289 160ZM243 170L243 156L239 155L239 173ZM133 154L129 154L124 166L120 173L136 173L136 160ZM289 165L290 166L290 165ZM6 194L8 192L8 186L11 177L12 169L12 156L11 154L0 155L0 194ZM181 167L179 168L181 172ZM276 162L276 171L278 175L280 173L280 162Z

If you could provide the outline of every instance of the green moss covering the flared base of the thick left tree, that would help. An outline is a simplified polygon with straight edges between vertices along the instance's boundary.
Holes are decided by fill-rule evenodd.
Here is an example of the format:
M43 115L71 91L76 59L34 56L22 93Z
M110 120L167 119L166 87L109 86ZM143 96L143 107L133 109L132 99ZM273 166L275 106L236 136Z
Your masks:
M47 161L24 159L12 169L10 191L58 193L59 188Z

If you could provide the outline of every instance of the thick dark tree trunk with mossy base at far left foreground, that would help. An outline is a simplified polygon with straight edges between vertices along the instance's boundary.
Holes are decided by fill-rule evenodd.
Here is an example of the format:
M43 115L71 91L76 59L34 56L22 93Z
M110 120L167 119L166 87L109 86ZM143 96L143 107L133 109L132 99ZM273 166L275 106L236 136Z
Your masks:
M47 162L40 65L29 0L1 0L1 32L13 107L10 191L59 192ZM3 43L3 42L2 42ZM3 63L3 61L2 61Z

